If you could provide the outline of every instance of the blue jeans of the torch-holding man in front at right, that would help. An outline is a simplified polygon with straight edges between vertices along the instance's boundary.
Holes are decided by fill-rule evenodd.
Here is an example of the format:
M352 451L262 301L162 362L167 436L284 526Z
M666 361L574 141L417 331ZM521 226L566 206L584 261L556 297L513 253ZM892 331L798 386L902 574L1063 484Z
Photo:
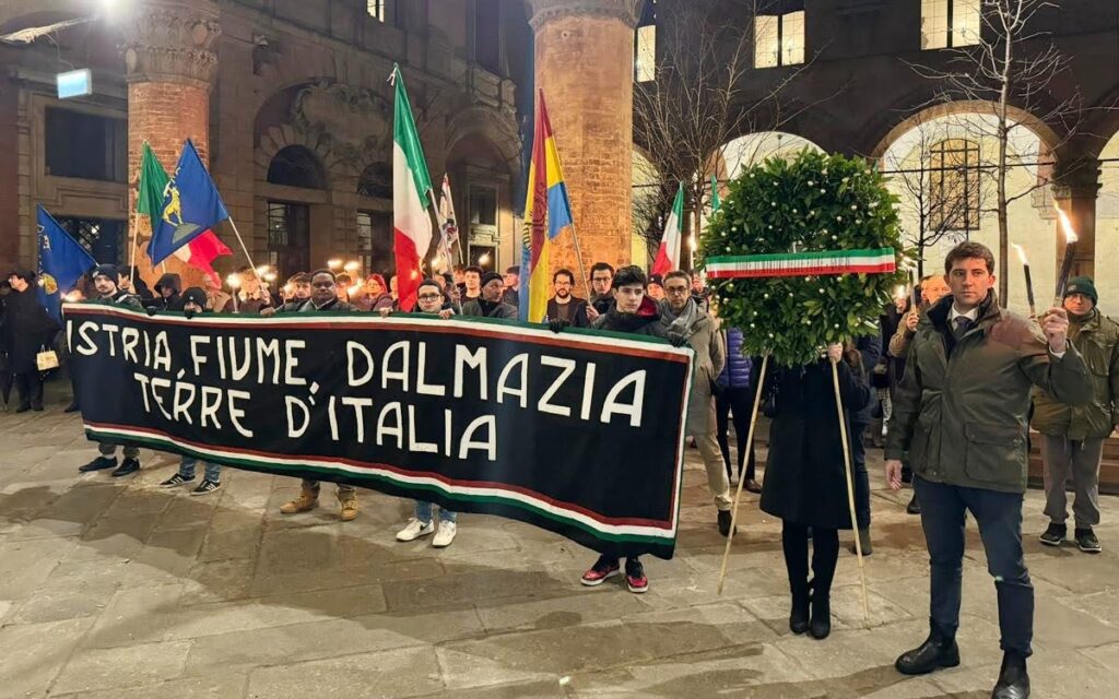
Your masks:
M987 572L998 594L998 626L1004 651L1028 657L1034 635L1034 587L1022 556L1022 493L933 483L913 476L921 501L921 527L929 547L930 616L943 632L960 623L963 521L976 518L987 552Z

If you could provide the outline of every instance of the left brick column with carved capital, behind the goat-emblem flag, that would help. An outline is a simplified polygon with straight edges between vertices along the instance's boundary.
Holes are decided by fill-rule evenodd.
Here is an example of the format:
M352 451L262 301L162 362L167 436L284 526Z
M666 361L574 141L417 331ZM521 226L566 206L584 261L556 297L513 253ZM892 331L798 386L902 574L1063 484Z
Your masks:
M133 210L144 141L168 173L173 172L186 139L195 142L204 161L209 160L209 91L217 73L211 47L222 34L217 16L213 0L147 0L134 3L126 20L121 49L129 82L129 200ZM129 234L138 224L140 247L145 249L143 240L151 237L147 217L131 220ZM231 240L226 244L236 247ZM149 284L159 277L140 251L137 264ZM178 258L168 258L166 264L168 272L182 276L184 287L201 284L201 273Z

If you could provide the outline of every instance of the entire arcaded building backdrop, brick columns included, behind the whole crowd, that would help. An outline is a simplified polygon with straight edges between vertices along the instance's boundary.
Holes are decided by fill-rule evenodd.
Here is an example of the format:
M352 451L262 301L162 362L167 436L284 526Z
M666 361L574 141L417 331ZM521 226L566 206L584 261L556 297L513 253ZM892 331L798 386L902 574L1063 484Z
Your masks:
M450 177L468 261L518 262L521 129L538 88L584 262L640 258L631 186L656 173L634 174L649 153L633 143L632 86L660 79L657 39L697 6L745 39L739 108L774 93L781 105L723 144L721 177L806 144L861 155L892 173L911 240L925 226L946 232L929 261L961 237L997 251L982 174L997 151L990 102L943 103L943 85L914 68L944 69L990 39L978 0L10 0L0 36L100 16L0 42L0 264L34 264L38 204L98 259L126 262L130 227L145 226L130 215L143 141L170 169L189 136L256 264L283 275L335 257L387 271L394 63L432 177ZM1119 299L1119 271L1096 264L1119 256L1119 4L1061 0L1033 27L1016 50L1052 45L1066 65L1010 110L1010 242L1049 287L1064 249L1057 204L1081 236L1078 271ZM58 100L55 76L83 67L93 93ZM1065 102L1076 112L1059 119L1052 107ZM231 229L219 234L235 247ZM574 236L560 243L554 264L575 268ZM1021 306L1021 267L1009 271Z

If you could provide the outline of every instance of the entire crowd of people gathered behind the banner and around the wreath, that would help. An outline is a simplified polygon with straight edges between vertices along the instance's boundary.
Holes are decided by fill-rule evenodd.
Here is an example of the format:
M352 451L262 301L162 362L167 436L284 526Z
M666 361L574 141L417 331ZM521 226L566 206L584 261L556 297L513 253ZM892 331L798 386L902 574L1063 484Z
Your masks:
M649 276L640 267L614 270L605 262L595 263L590 273L589 299L574 295L574 273L553 274L545 322L557 333L567 328L603 329L664 338L694 350L686 433L704 464L715 527L723 536L731 535L731 488L739 480L745 490L761 493L764 512L782 520L789 626L794 633L816 639L830 633L839 530L855 530L863 554L873 552L868 441L884 448L890 487L912 484L906 509L921 516L931 556L931 632L921 646L897 660L897 670L918 674L959 663L955 634L963 519L970 511L998 589L1005 660L994 696L1028 695L1025 659L1031 652L1033 592L1022 554L1022 502L1031 419L1041 433L1045 465L1050 525L1042 541L1060 546L1066 538L1065 484L1071 480L1076 546L1088 552L1101 549L1092 528L1100 519L1102 445L1119 421L1119 324L1097 309L1099 296L1090 278L1070 281L1063 308L1024 319L1000 309L993 291L990 252L965 243L948 255L942 274L930 274L911 293L899 295L880 319L880 333L821 348L819 361L808 366L770 365L761 377L761 358L743 355L742 329L721 325L717 304L698 276L683 271ZM402 312L392 276L386 282L370 274L364 283L355 283L348 274L318 270L295 274L272 291L245 267L238 281L229 292L208 277L204 286L184 290L178 275L164 274L151 293L131 271L98 265L75 294L150 313ZM505 274L478 266L455 268L424 280L412 312L449 321L516 319L518 286L517 267ZM55 343L60 328L39 303L35 287L35 274L16 271L2 296L2 369L18 389L17 412L43 409L35 355ZM836 418L833 363L846 409L844 425ZM760 397L759 386L765 387ZM752 445L745 447L755 398L770 419L761 482ZM75 403L67 409L76 407ZM732 426L737 442L733 461ZM855 521L847 504L844 429L854 471ZM120 462L117 448L100 444L100 455L79 471L112 470L112 475L123 476L140 470L135 447L124 446ZM184 457L161 485L192 483L198 465L198 460ZM222 488L220 465L201 465L203 480L192 494ZM320 484L304 480L280 512L312 510L319 507L319 494ZM338 485L337 499L342 520L358 516L355 488ZM457 533L455 513L440 508L435 519L432 503L416 502L396 538L412 541L434 535L433 546L449 546ZM619 574L624 574L631 592L649 588L637 556L624 566L617 557L600 556L582 583L600 585Z

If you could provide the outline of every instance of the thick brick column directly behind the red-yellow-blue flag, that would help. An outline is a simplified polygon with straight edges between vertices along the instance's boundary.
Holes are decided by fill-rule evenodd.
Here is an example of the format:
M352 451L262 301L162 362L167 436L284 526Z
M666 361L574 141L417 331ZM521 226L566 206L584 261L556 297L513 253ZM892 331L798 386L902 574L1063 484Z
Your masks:
M641 0L529 0L544 91L586 273L629 264L633 28ZM579 267L570 235L553 267ZM589 290L581 280L579 293Z

